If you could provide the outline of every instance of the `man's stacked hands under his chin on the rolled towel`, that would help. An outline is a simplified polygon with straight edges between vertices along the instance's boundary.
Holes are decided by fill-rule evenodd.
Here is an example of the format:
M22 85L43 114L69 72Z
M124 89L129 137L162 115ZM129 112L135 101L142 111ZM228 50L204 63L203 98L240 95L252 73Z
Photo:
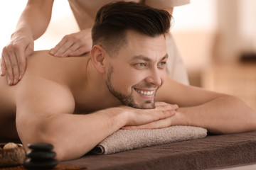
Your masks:
M176 114L177 105L171 105L164 102L156 102L156 108L154 109L138 109L123 106L123 108L129 109L129 118L127 125L122 129L138 129L138 128L167 128L171 126L169 118ZM151 124L156 124L152 126Z

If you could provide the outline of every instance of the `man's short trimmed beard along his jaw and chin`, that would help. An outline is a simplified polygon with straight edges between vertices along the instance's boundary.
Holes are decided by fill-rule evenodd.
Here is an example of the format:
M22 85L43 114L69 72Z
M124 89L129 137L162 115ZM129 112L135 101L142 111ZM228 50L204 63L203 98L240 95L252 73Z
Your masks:
M109 89L110 93L119 99L119 101L126 105L126 106L130 106L132 108L155 108L155 102L153 101L145 101L146 106L143 106L142 104L139 103L135 103L134 98L132 96L132 94L130 94L129 96L125 96L124 94L122 94L121 92L118 92L116 90L114 90L112 84L111 84L111 76L112 76L112 72L113 72L113 67L110 66L110 69L108 70L107 73L107 80L106 80L106 84L107 84L107 89ZM152 86L151 84L146 84L146 87L150 87ZM156 94L156 93L155 93ZM149 105L150 104L150 105Z

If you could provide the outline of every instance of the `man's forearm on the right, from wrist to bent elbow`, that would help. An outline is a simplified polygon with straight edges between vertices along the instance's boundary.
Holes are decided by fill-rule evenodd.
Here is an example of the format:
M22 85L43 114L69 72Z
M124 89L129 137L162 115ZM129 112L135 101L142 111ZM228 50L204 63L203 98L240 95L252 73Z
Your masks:
M201 106L178 108L174 125L192 125L212 133L256 130L256 111L233 96L215 98Z

